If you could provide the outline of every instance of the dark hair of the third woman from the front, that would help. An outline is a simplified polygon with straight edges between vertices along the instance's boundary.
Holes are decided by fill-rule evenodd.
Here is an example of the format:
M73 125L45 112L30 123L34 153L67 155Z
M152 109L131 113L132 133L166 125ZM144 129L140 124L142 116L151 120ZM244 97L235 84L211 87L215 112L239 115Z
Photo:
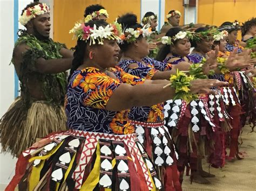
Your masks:
M178 34L179 31L182 31L182 29L180 29L179 27L172 27L171 29L169 29L169 31L167 31L165 36L172 38L176 36L176 34ZM177 41L172 41L172 43L176 44ZM169 52L170 52L170 45L164 45L163 47L160 48L157 54L156 60L163 61Z

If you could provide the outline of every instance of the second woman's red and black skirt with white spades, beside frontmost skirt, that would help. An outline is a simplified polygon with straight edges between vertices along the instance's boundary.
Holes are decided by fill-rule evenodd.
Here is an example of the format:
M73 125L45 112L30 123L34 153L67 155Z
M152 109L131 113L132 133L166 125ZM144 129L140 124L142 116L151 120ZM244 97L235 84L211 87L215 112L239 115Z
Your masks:
M156 166L165 190L181 190L177 169L178 153L164 122L131 121L136 127L137 138Z

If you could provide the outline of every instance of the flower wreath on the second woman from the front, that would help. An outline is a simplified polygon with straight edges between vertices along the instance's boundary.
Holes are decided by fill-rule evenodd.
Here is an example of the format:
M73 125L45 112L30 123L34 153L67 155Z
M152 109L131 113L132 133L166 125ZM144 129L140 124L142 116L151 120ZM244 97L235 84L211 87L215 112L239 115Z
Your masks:
M151 28L147 27L146 25L140 29L137 28L134 30L133 28L127 28L124 29L124 32L122 34L120 44L122 44L124 41L127 43L132 43L133 41L136 41L136 39L142 34L143 37L149 37L152 33Z

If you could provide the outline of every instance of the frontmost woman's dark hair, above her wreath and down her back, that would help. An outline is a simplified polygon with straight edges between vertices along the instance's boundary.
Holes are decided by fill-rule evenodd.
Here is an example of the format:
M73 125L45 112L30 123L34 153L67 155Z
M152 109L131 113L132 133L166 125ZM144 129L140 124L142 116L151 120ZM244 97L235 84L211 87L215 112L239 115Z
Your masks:
M85 23L85 26L90 26L93 27L94 25L97 26L97 28L99 26L107 26L108 24L106 22L104 22L103 20L92 20L89 23ZM97 40L96 40L96 44L97 44ZM84 61L84 55L85 55L85 51L86 51L86 45L87 43L84 40L77 40L77 45L75 47L75 52L73 54L74 58L72 61L72 66L70 69L70 75L69 75L69 79L72 76L73 72L80 66L83 64Z

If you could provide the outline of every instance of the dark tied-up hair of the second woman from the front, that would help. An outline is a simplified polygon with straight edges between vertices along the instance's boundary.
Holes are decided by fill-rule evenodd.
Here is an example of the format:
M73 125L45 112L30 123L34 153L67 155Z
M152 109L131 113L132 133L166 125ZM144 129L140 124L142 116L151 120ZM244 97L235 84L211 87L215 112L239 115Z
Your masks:
M117 22L122 25L123 31L128 28L132 28L134 30L137 28L142 28L142 25L137 23L137 16L132 13L126 13L125 15L119 17ZM142 38L142 35L140 35L139 38ZM123 52L127 51L129 46L130 44L128 44L126 41L124 41L123 44L119 44L119 47Z

